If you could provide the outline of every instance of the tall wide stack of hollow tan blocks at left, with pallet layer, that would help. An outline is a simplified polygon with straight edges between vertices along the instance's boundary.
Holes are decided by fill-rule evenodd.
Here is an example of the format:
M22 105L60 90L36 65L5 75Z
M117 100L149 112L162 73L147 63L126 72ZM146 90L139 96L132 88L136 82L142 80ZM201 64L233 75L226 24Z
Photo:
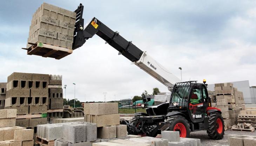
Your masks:
M46 124L48 75L13 72L7 80L5 109L17 109L16 126Z

